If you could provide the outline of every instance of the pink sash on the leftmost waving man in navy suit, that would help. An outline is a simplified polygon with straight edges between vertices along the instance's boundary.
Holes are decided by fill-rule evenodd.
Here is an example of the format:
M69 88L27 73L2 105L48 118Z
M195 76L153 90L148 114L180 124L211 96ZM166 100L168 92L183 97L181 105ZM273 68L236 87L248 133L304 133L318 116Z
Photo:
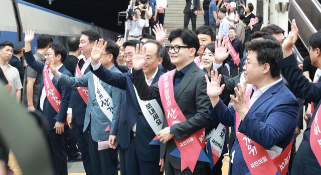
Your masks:
M59 107L60 107L60 100L61 100L61 94L57 90L57 88L52 83L50 76L49 76L49 66L46 65L43 69L43 76L44 76L44 87L46 90L46 96L52 105L52 107L56 110L58 113Z

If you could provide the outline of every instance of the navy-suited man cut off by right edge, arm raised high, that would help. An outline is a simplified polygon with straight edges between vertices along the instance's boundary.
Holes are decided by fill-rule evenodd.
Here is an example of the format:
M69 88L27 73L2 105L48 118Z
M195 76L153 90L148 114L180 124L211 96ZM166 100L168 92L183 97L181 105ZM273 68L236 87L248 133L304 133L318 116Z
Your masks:
M284 58L279 58L276 62L280 67L284 78L293 90L293 93L300 98L313 102L314 112L311 113L312 117L307 123L306 129L303 133L303 140L295 154L291 174L321 174L321 157L320 153L317 153L316 149L317 146L321 147L321 142L317 142L317 140L313 140L310 137L312 134L315 134L314 136L320 134L318 129L316 129L316 126L314 124L312 125L312 123L313 121L315 123L316 118L319 117L316 114L320 112L318 110L321 104L321 79L318 79L317 83L309 82L309 80L303 76L302 70L298 68L296 56L292 53L292 47L297 36L298 29L296 27L295 20L293 19L291 31L282 44ZM310 36L309 45L309 55L311 57L312 65L321 68L321 31L313 33ZM320 121L319 118L317 119ZM311 141L316 145L316 147L313 147L314 150L312 149Z

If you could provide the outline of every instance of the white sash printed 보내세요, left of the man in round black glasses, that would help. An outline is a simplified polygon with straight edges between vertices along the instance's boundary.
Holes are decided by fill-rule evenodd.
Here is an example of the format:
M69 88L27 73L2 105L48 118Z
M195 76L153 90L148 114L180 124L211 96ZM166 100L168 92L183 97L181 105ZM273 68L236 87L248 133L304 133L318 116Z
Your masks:
M164 121L164 113L162 111L161 106L159 106L156 99L152 99L149 101L143 101L139 98L137 90L133 85L137 97L138 104L142 111L142 114L146 118L151 129L156 133L162 130L163 121Z

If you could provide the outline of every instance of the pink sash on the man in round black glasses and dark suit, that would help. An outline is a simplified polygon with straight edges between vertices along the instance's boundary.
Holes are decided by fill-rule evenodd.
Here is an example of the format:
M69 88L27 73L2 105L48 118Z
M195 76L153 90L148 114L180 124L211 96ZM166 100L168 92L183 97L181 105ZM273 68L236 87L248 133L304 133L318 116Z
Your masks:
M175 70L176 69L163 74L158 80L159 94L161 95L169 126L186 120L174 97L173 75ZM200 152L203 151L202 148L205 146L204 128L179 141L175 136L173 139L181 152L181 171L189 167L193 172Z

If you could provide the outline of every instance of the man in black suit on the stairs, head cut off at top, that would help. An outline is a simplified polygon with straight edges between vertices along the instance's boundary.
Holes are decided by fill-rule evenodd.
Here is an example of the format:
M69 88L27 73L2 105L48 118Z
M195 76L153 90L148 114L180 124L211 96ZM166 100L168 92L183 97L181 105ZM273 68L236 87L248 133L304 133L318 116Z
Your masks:
M192 3L193 2L193 3ZM196 15L200 10L200 0L186 0L184 8L184 28L189 26L190 19L192 21L192 30L196 31Z

